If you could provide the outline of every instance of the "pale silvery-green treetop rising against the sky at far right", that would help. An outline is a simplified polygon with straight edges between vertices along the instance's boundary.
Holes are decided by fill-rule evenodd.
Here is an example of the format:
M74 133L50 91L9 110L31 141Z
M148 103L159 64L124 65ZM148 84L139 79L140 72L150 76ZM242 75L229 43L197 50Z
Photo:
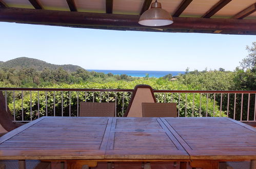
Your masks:
M251 69L255 70L256 69L256 41L252 43L252 46L246 46L246 50L248 51L248 55L246 58L240 62L240 66L242 69Z

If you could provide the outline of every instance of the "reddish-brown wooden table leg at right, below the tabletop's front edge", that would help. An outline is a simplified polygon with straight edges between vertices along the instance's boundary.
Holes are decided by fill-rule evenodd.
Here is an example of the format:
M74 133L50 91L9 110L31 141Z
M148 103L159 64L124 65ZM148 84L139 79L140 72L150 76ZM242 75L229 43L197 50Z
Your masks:
M203 169L219 169L219 161L193 160L189 162L190 166Z

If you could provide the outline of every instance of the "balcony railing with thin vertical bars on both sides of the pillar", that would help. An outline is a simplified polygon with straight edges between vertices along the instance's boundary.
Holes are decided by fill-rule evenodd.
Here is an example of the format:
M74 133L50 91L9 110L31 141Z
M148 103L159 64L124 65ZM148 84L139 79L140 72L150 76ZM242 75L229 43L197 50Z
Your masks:
M131 89L0 88L13 121L41 116L78 116L79 103L115 102L115 116L123 116ZM179 117L230 117L256 121L256 91L153 90L157 102L176 102Z

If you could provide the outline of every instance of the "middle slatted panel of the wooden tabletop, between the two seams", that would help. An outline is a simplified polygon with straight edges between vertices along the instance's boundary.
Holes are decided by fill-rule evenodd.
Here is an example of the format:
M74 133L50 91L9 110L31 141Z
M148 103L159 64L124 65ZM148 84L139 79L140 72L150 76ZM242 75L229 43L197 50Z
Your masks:
M189 159L159 118L114 118L106 159Z

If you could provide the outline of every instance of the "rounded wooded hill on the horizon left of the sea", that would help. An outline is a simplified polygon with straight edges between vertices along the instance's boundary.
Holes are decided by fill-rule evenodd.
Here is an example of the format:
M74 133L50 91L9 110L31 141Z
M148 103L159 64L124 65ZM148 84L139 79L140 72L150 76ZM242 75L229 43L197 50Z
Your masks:
M49 64L46 61L28 58L28 57L18 57L18 58L8 60L5 62L0 61L0 68L13 68L13 69L17 69L17 70L21 70L24 68L33 68L37 71L42 71L45 68L50 69L50 70L56 70L60 67L62 67L64 70L69 71L69 72L74 72L77 69L83 69L82 67L75 66L75 65Z

